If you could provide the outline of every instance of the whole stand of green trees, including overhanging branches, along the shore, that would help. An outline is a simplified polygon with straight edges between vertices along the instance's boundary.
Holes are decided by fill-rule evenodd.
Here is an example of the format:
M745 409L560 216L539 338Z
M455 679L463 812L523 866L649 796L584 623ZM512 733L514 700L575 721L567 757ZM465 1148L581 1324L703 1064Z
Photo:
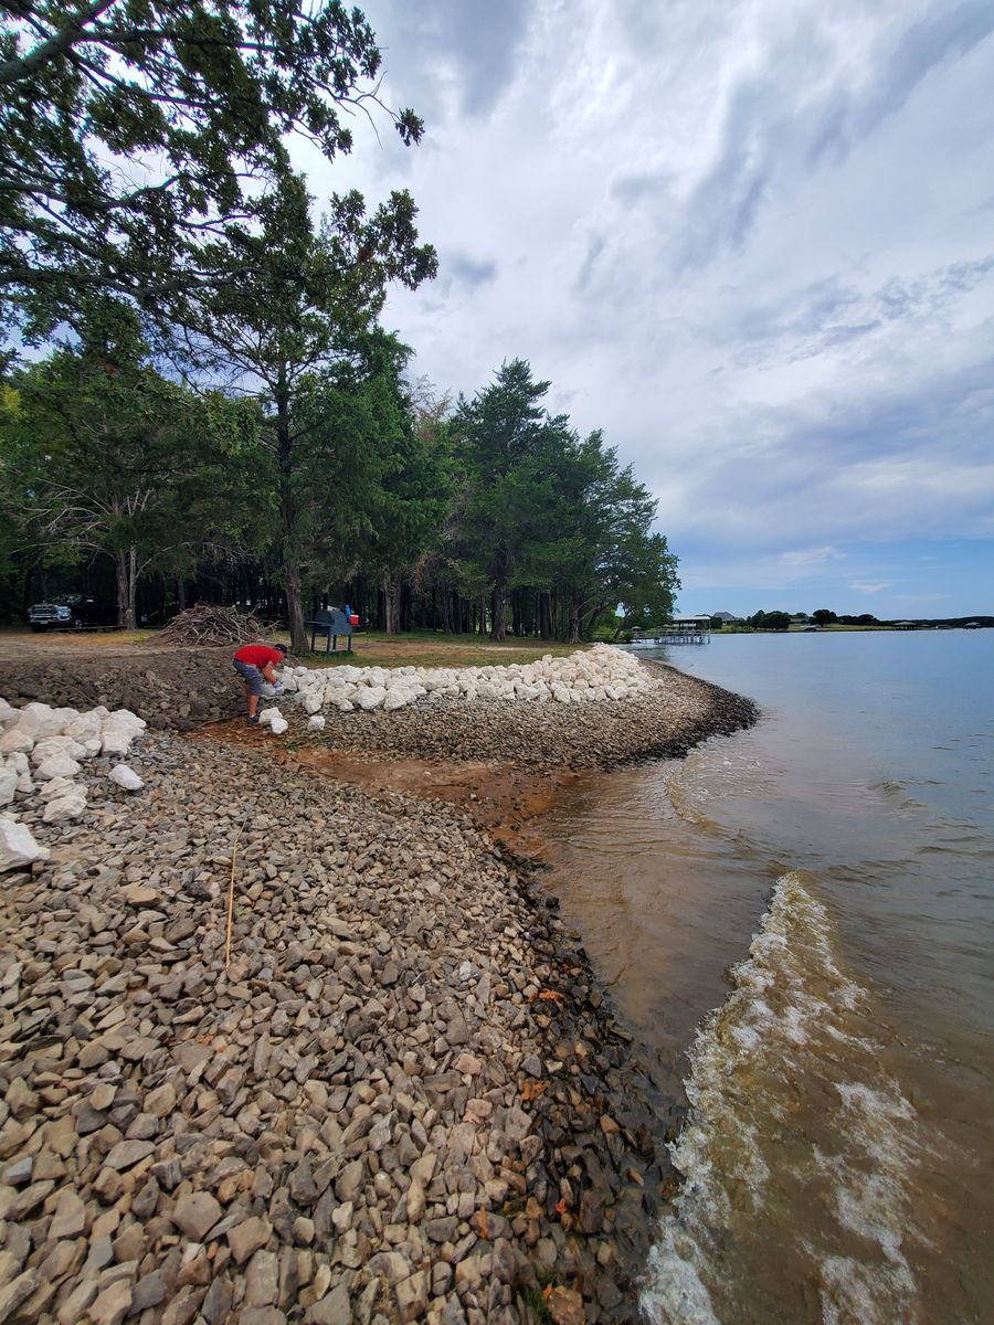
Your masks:
M521 359L472 398L380 322L437 270L406 191L315 212L286 151L382 107L359 11L36 7L3 19L0 587L118 623L193 600L579 640L672 607L656 505ZM423 131L388 111L404 143ZM152 168L155 167L155 168Z

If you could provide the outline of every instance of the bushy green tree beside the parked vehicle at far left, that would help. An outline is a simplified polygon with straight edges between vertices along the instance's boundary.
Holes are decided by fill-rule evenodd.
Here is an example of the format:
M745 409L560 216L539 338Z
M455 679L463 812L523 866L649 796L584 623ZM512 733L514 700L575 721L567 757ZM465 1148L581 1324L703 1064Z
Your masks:
M186 564L191 543L221 527L231 466L217 447L252 423L223 398L162 378L115 306L93 307L78 346L15 382L0 441L21 545L56 564L110 558L118 624L134 629L139 578Z

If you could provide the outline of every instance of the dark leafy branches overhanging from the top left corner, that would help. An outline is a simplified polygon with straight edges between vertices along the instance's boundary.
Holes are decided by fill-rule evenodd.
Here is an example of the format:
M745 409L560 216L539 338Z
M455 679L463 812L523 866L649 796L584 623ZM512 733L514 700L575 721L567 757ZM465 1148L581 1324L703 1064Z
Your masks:
M351 150L379 66L338 0L1 0L0 319L44 334L81 290L158 311L240 280L205 241L258 215L288 135ZM391 118L420 139L414 111Z

